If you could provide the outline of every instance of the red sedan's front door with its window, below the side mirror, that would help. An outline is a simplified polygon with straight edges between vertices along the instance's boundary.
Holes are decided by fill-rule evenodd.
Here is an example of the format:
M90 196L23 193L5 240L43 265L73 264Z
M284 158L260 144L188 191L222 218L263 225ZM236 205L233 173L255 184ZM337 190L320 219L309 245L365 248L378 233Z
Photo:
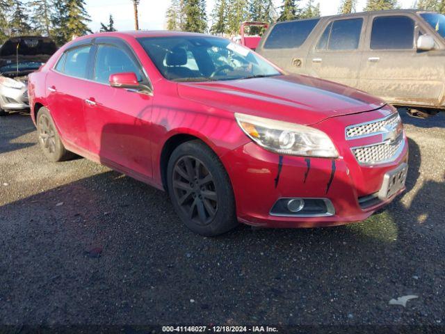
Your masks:
M91 151L103 164L128 171L133 177L152 177L152 96L108 84L111 74L124 72L147 81L136 56L126 46L97 45L85 102Z

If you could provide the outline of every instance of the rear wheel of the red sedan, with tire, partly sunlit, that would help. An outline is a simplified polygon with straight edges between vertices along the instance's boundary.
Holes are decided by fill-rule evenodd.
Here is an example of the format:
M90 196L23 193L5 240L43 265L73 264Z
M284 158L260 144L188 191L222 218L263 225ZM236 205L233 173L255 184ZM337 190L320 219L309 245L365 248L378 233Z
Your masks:
M65 161L73 157L60 141L54 121L48 109L42 107L37 115L37 132L40 148L49 161Z

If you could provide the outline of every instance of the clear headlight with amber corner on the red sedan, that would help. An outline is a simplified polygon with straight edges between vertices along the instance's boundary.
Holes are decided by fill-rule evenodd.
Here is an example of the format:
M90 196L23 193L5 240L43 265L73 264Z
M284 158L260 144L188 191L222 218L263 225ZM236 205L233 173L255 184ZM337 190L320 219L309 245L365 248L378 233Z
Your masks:
M339 157L327 134L313 127L242 113L235 113L235 118L243 132L266 150L300 157Z

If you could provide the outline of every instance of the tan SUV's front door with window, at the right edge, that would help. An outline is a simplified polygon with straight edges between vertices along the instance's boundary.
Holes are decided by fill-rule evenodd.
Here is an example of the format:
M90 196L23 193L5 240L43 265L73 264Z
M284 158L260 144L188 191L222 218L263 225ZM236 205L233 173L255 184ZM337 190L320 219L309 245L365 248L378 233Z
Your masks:
M393 104L435 105L443 89L437 51L417 51L426 33L414 14L370 17L359 88Z

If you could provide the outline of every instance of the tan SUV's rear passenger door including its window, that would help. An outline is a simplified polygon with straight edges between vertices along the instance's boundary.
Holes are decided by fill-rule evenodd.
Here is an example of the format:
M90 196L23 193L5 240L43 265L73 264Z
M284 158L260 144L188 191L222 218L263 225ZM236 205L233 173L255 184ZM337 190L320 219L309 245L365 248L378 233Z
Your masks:
M357 87L366 15L325 22L323 33L314 40L307 56L308 74L350 87Z

